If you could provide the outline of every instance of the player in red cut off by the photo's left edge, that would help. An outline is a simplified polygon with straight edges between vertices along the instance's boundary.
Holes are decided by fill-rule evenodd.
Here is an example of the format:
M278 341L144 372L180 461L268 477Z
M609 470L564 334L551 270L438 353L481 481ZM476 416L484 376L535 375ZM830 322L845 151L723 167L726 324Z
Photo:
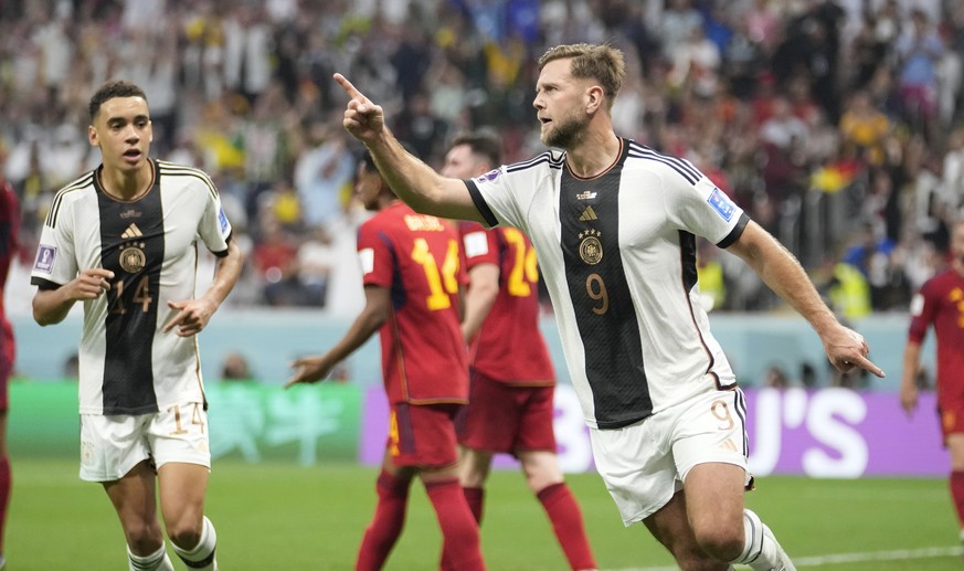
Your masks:
M10 456L7 452L7 411L10 403L8 383L13 373L17 350L13 326L7 319L3 305L3 290L10 274L10 264L20 250L17 240L20 231L20 202L10 181L3 177L4 155L3 141L0 141L0 569L7 564L3 557L3 537L12 482Z

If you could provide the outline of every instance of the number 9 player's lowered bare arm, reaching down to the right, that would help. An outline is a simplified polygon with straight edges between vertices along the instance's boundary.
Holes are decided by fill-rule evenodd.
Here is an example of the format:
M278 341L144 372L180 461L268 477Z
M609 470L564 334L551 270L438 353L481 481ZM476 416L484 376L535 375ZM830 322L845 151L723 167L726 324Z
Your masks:
M870 348L864 337L840 325L820 299L799 262L769 232L750 222L729 250L742 257L771 289L811 322L834 367L847 372L856 366L883 377L883 371L867 359Z

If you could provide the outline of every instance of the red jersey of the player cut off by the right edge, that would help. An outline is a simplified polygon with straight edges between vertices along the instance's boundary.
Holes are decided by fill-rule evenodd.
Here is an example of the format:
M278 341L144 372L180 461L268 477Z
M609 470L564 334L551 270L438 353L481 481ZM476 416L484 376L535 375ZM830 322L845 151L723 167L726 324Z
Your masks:
M911 311L910 340L923 342L931 324L937 336L937 402L964 405L964 276L935 275L921 287Z

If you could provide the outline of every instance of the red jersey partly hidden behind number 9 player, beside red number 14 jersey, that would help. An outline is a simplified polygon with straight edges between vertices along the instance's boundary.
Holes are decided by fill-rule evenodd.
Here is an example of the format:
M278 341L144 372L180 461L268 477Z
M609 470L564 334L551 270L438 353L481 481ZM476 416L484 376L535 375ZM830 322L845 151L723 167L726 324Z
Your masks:
M469 347L469 364L506 383L551 385L555 371L539 330L539 269L536 250L521 231L459 224L466 266L496 264L499 294ZM472 287L472 286L469 286Z

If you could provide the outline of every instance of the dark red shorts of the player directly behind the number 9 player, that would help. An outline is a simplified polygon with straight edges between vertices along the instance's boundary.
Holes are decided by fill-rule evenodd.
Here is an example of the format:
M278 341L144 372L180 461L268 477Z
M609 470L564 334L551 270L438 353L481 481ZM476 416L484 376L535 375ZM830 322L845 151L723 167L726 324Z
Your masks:
M476 371L470 383L458 420L459 444L491 453L555 452L553 387L512 385Z

